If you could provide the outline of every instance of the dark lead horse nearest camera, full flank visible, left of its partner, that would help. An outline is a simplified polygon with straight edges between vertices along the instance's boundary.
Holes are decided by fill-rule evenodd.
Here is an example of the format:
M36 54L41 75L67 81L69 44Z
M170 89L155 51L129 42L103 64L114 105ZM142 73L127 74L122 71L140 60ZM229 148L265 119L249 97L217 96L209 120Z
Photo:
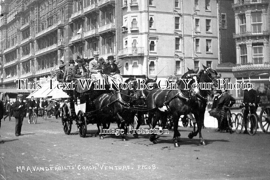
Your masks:
M197 71L188 70L183 76L182 79L193 79L193 77L197 76ZM195 82L194 79L189 83L189 86ZM194 119L191 114L190 102L188 98L191 96L189 90L184 90L186 88L185 83L183 81L180 82L177 90L161 90L161 89L153 89L149 92L146 97L146 105L147 109L150 110L149 114L153 116L155 114L152 126L155 127L158 120L166 119L167 116L164 112L161 112L158 107L162 107L163 105L167 106L170 109L170 113L173 116L173 129L174 129L174 146L178 147L178 141L180 141L180 133L178 131L178 120L181 115L187 115L191 119ZM152 110L152 111L151 111ZM156 134L151 134L150 141L154 144L157 143Z

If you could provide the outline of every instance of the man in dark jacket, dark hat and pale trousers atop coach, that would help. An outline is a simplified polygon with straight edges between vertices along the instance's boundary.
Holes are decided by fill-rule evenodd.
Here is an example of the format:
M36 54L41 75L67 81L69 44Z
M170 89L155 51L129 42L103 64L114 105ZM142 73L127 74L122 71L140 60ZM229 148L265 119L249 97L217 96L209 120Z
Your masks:
M108 56L109 63L105 64L105 67L103 69L103 73L108 75L108 81L111 84L111 80L117 82L119 79L120 82L123 81L122 76L120 75L120 71L117 67L117 65L114 63L114 56Z

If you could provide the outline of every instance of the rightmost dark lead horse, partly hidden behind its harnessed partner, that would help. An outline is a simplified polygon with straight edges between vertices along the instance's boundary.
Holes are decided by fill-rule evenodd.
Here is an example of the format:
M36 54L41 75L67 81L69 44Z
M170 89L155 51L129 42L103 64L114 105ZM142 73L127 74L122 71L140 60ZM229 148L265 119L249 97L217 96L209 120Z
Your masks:
M212 82L214 86L217 86L217 72L213 70L210 66L205 67L203 65L203 70L201 70L197 77L198 77L198 83L204 83L204 82ZM205 145L205 141L201 134L201 129L203 126L204 121L204 113L207 106L207 95L209 90L203 90L199 86L198 93L195 95L196 98L193 98L193 102L191 105L191 112L194 114L194 117L196 119L197 123L197 131L195 130L195 123L194 129L191 133L188 134L188 137L192 139L194 136L197 136L199 133L200 142L202 145Z

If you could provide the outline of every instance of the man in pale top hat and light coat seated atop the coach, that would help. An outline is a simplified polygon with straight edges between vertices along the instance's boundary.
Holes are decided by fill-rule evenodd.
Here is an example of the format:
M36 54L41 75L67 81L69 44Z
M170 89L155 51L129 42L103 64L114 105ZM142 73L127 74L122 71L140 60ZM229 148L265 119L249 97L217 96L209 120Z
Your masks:
M94 59L89 62L89 71L91 75L93 75L96 79L107 79L106 76L101 74L102 70L102 62L99 61L99 52L93 52Z

